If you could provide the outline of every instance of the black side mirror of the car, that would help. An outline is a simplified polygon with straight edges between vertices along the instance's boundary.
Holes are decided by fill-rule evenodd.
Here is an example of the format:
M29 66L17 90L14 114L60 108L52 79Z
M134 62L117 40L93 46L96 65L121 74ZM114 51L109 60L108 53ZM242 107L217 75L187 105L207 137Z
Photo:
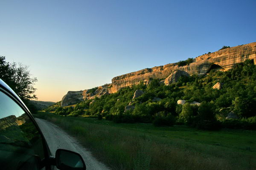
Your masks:
M70 150L57 149L55 161L56 167L60 170L86 170L81 155Z

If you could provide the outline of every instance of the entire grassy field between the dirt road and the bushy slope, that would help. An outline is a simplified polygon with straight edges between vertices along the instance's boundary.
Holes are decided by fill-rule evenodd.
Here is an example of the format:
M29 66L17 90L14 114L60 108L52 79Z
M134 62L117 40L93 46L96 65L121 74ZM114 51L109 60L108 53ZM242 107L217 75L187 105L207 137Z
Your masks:
M62 127L113 170L256 170L256 131L35 116Z

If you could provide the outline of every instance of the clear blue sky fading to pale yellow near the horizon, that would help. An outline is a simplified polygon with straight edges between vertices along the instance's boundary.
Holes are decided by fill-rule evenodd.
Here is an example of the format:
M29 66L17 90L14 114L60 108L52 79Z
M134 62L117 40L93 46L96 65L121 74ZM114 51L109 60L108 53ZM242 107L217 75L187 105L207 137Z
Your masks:
M42 101L255 41L256 0L0 0L0 55Z

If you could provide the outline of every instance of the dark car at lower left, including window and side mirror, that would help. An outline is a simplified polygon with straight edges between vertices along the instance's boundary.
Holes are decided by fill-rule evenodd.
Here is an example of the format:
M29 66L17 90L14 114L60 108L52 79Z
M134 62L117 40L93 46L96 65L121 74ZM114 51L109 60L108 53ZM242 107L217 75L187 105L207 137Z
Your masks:
M79 153L58 149L55 157L29 109L0 79L0 169L86 170Z

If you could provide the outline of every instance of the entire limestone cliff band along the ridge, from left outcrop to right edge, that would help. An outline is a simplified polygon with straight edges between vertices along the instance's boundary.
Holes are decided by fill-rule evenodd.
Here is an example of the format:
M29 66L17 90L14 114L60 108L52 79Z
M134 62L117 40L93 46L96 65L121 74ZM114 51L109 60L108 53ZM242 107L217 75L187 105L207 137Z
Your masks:
M100 97L104 94L116 93L121 88L137 85L141 81L148 84L150 79L154 78L164 79L163 82L168 85L184 75L204 75L212 69L227 71L235 65L244 62L246 59L253 59L254 64L256 64L256 42L204 54L196 57L195 62L185 66L178 66L177 63L171 63L123 74L114 77L112 84L100 86L94 92L91 92L92 89L69 91L62 98L61 106L73 105L84 99L93 99L96 96Z

